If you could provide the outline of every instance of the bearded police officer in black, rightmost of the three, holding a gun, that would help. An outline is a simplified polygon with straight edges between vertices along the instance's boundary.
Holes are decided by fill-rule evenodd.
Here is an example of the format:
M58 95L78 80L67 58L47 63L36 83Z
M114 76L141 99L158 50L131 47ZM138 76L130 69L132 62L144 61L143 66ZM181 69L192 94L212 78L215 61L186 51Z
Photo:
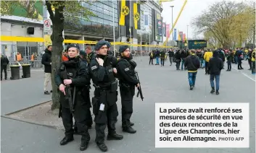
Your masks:
M136 63L131 59L128 45L121 46L119 52L121 57L117 63L117 71L122 102L122 127L123 131L135 134L136 130L131 127L133 123L131 123L130 118L133 113L135 86L139 87L139 80L135 78Z

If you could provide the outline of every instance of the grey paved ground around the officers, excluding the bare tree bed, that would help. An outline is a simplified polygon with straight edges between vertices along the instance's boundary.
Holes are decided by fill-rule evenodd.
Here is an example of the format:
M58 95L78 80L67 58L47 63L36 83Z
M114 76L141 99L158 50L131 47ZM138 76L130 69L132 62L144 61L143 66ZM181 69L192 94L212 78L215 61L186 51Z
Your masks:
M189 90L186 71L176 71L174 66L149 66L147 57L137 58L139 77L144 92L144 101L134 98L132 121L136 123L136 134L123 134L122 141L106 141L109 152L161 152L161 153L252 153L255 152L255 76L245 66L236 71L223 71L220 77L220 95L210 94L209 76L200 69L196 87ZM30 79L1 82L1 115L26 108L46 100L49 95L42 92L44 73L34 71ZM250 104L250 148L249 149L155 149L154 148L154 103L155 102L249 102ZM120 101L118 101L120 106ZM120 110L120 107L119 107ZM117 133L120 128L120 115ZM90 146L85 152L100 152L94 143L95 131L90 130ZM80 152L80 136L64 147L59 141L64 132L54 128L36 126L7 118L1 118L1 151L4 153L25 152Z

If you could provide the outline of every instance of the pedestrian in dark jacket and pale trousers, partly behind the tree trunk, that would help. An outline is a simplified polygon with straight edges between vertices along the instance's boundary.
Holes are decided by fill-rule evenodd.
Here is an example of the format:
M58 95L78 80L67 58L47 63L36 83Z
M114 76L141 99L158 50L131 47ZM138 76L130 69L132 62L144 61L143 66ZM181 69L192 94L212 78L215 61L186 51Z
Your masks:
M51 50L52 45L48 45L44 50L44 55L42 56L41 64L44 65L44 95L50 95L47 90L48 85L51 87ZM52 92L52 90L51 90Z

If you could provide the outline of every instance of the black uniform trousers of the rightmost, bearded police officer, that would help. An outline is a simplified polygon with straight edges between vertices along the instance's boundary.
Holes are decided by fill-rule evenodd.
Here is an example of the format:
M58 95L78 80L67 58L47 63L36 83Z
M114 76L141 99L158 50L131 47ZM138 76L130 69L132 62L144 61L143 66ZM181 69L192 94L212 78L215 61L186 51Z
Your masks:
M133 114L133 96L135 92L134 85L129 85L129 87L124 87L120 84L120 95L122 104L122 127L130 127L130 118Z

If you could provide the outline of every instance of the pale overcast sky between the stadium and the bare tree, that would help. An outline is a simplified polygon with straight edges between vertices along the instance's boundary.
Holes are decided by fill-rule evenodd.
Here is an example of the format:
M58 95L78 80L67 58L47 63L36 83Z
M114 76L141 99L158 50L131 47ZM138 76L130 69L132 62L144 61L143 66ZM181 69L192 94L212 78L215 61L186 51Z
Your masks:
M162 11L162 17L163 22L167 22L167 24L172 24L172 9L170 6L173 7L173 24L178 17L178 13L181 10L181 7L183 6L185 0L174 0L170 2L165 2L162 4L163 11ZM181 16L178 19L178 22L176 23L176 29L183 31L183 33L187 33L187 26L189 25L189 38L193 38L194 36L194 30L191 27L191 21L194 17L199 16L199 14L202 14L204 10L206 10L211 4L215 3L216 1L222 1L222 0L188 0L186 3L186 6L183 9L183 12L181 13ZM232 0L232 1L245 1L245 0ZM171 27L170 27L171 29ZM187 34L186 34L187 35Z

